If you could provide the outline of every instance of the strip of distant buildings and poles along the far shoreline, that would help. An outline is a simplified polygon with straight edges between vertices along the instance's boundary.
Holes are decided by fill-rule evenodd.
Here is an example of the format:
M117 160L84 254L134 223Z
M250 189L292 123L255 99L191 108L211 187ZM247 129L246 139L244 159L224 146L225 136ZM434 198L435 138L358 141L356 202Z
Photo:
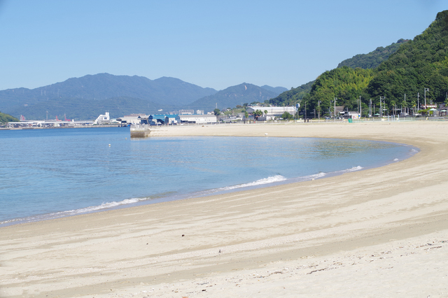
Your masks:
M419 116L441 117L447 116L447 109L445 104L428 104L423 106L428 111L425 115L419 113L412 113L405 108L397 108L396 113L388 115L388 113L375 113L369 108L368 117L365 120L392 120L414 118ZM360 120L362 111L348 111L344 106L335 106L333 111L325 113L322 116L323 120ZM161 112L161 111L160 111ZM330 117L328 117L330 116ZM20 117L20 122L9 122L8 128L62 128L62 127L125 127L130 125L148 125L148 126L162 126L162 125L205 125L218 123L251 123L251 122L276 122L278 120L297 120L301 122L309 122L309 120L321 120L321 115L316 115L316 111L307 115L304 110L300 109L300 105L296 106L265 106L262 104L255 104L251 106L239 106L235 109L223 109L222 111L216 109L213 112L204 113L202 110L179 110L170 113L159 113L153 115L146 115L144 113L133 113L124 115L120 118L111 118L109 112L104 115L99 115L97 119L92 121L74 121L64 117L64 120L59 120L57 117L54 120L27 120L25 117Z

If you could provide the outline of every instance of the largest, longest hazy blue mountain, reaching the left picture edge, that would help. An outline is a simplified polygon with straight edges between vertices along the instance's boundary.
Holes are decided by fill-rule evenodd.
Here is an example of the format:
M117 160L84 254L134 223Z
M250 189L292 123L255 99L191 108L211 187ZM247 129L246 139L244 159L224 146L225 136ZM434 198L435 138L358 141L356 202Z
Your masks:
M0 109L11 115L25 115L27 118L34 119L45 118L46 111L52 118L56 115L60 116L60 113L64 115L71 112L74 119L90 119L90 116L87 116L88 113L80 111L87 111L89 106L96 111L95 106L98 106L96 101L101 101L104 109L111 111L111 117L119 117L122 114L114 114L115 102L111 99L139 99L137 102L141 109L153 112L160 108L183 106L216 92L213 88L203 88L178 78L162 77L150 80L143 76L114 76L109 73L98 73L80 78L69 78L64 82L35 89L20 87L1 90ZM71 101L76 102L77 106L73 106ZM131 106L137 108L134 104ZM36 113L37 110L44 113ZM140 109L134 113L139 111Z

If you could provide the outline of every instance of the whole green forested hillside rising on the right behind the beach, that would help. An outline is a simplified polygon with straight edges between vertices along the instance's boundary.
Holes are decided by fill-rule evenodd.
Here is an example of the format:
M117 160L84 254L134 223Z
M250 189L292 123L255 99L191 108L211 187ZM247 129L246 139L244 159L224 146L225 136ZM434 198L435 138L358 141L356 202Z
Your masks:
M366 114L370 99L372 104L379 106L380 97L385 98L389 111L395 106L414 108L418 94L421 103L426 88L427 101L445 101L448 94L448 10L437 13L430 27L414 40L400 41L395 44L395 47L399 45L398 49L377 68L353 69L341 66L332 71L325 71L316 79L309 94L302 96L302 99L297 96L299 90L289 90L271 102L295 104L306 101L307 110L318 111L320 108L322 113L328 113L335 98L337 106L346 106L352 111L357 111L360 98L363 113ZM374 66L368 62L372 57L365 55L365 59L358 57L347 64Z

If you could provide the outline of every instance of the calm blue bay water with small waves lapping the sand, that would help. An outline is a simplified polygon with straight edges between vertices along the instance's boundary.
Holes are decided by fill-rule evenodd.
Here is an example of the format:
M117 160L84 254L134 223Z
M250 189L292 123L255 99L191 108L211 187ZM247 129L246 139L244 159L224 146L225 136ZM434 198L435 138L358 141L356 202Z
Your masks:
M6 130L0 141L0 225L321 178L417 152L340 139L130 139L129 127Z

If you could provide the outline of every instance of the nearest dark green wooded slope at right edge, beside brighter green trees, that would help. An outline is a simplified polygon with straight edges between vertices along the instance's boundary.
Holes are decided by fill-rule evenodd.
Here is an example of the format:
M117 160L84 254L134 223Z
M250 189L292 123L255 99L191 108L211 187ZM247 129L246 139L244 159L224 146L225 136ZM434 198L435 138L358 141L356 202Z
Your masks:
M386 97L386 103L398 104L417 99L417 92L437 102L448 92L448 10L437 13L430 27L403 44L397 52L378 67L367 87L370 97Z

